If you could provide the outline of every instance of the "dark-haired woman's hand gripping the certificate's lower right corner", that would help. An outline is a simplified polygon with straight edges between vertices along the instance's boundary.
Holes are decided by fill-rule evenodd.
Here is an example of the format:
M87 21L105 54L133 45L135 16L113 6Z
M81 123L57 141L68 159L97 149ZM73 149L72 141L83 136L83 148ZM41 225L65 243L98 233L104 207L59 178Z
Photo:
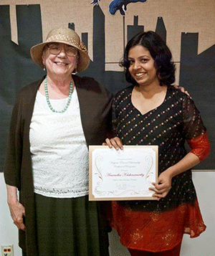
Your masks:
M158 200L164 198L168 194L168 191L171 190L171 181L172 177L170 174L168 174L168 171L163 171L158 176L158 182L152 183L154 187L149 188L150 190L155 191L153 196L156 196Z

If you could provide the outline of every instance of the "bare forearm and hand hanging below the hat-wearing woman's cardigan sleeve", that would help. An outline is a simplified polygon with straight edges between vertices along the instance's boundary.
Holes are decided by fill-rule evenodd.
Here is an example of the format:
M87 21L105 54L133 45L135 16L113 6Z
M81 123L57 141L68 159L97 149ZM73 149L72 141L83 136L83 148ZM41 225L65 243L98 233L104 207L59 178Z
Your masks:
M11 217L14 221L14 224L18 229L22 229L25 231L24 225L24 216L25 216L25 209L22 204L19 203L17 199L17 188L16 186L10 186L6 184L6 191L7 191L7 202L9 205L9 209L11 212Z

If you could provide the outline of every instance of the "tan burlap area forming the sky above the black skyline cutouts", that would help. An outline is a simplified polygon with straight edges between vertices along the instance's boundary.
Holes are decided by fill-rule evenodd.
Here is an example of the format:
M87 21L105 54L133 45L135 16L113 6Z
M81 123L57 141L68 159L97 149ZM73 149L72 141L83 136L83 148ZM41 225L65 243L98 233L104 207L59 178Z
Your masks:
M0 4L9 4L11 14L11 39L18 43L16 29L16 5L40 4L42 15L43 38L50 29L75 23L78 34L88 33L88 49L92 56L93 5L92 0L1 0ZM180 62L181 32L199 33L198 54L215 43L215 4L214 0L148 0L130 3L125 13L125 26L120 11L110 14L111 0L98 3L105 16L105 70L120 70L117 64L123 55L123 29L127 42L127 26L133 25L133 16L138 16L138 24L146 30L155 30L159 16L167 32L167 44L173 52L173 59ZM97 20L100 23L100 20ZM179 65L177 72L177 82Z

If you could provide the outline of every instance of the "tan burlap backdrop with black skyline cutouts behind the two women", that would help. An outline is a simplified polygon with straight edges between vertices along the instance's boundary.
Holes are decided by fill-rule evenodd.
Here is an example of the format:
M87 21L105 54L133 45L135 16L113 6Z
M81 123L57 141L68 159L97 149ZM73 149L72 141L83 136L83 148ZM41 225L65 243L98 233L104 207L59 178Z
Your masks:
M161 34L173 53L176 84L191 93L209 130L212 154L200 168L215 169L214 0L97 0L99 6L92 1L0 1L0 115L4 117L0 118L0 171L16 93L43 75L30 59L29 49L45 39L49 30L68 24L75 26L92 60L80 75L95 77L113 92L126 86L118 62L128 39L143 29ZM114 4L121 6L114 9Z

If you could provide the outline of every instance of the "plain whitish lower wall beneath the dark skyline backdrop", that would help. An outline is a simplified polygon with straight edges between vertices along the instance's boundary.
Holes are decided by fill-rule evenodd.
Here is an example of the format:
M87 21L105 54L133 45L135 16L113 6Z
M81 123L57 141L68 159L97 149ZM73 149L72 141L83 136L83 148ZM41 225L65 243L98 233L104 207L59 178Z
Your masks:
M190 239L183 237L181 256L215 255L215 171L193 172L194 184L199 199L201 214L207 226L200 237ZM6 187L4 176L0 173L0 245L14 245L14 255L22 256L18 247L18 232L13 224L6 204ZM128 250L120 245L116 232L110 233L110 256L129 256Z

